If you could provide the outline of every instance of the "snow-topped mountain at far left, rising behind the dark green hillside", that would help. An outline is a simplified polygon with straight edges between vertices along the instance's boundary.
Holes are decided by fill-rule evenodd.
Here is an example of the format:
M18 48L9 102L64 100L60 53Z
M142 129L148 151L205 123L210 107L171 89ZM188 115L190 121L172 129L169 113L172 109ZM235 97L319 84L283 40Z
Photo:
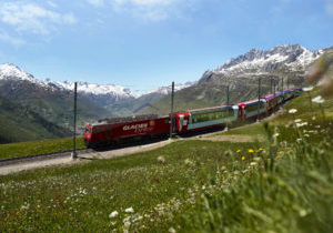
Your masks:
M0 95L60 126L70 129L72 125L73 91L34 79L13 64L0 65ZM79 124L108 115L109 112L104 108L79 93Z

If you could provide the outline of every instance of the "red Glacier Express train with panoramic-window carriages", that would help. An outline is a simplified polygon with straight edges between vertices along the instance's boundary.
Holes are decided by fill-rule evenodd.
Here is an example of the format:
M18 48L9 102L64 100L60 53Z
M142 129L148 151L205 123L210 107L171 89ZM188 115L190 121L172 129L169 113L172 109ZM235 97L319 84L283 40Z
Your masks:
M228 123L244 122L269 115L281 104L302 93L302 89L286 89L232 105L174 112L165 116L155 114L102 119L84 128L88 148L115 145L129 141L167 138L172 133L184 135L205 129L223 128Z

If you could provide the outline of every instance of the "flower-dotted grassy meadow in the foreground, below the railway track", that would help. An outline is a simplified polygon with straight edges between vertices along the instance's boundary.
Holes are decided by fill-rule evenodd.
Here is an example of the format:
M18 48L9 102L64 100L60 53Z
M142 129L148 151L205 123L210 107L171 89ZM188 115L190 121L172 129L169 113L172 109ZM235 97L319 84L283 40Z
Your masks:
M307 103L303 95L285 108L310 119ZM2 176L0 229L329 232L333 107L325 120L314 107L316 120L306 120L302 131L285 128L291 114L268 130L255 124L231 131L268 135L266 142L176 141L125 158ZM272 138L276 131L280 135ZM130 206L134 213L125 212ZM110 219L113 211L119 215Z

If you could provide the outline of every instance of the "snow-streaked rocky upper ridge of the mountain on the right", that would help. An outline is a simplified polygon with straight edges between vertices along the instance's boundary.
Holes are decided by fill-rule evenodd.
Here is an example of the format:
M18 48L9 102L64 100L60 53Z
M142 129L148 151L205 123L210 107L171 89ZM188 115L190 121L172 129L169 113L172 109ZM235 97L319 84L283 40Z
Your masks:
M283 44L266 51L252 49L245 54L226 61L214 70L206 71L202 79L206 79L212 74L266 74L279 69L305 71L323 52L324 50L311 51L300 44Z

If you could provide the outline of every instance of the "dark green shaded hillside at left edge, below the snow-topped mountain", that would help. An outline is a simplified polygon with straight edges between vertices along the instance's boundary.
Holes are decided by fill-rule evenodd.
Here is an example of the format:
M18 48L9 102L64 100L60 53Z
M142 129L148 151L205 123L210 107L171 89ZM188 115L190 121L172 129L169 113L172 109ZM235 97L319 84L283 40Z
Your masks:
M0 97L0 144L71 135L71 131L2 97Z

